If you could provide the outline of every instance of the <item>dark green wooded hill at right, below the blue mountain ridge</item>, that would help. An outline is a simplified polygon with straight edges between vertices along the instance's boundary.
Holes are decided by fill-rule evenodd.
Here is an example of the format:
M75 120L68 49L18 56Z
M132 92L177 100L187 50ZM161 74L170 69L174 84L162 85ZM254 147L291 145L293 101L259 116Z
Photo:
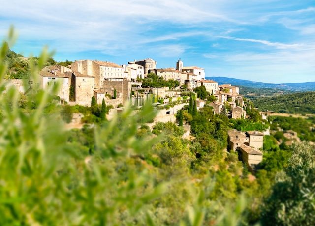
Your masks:
M315 92L293 93L256 99L254 105L261 111L315 114Z

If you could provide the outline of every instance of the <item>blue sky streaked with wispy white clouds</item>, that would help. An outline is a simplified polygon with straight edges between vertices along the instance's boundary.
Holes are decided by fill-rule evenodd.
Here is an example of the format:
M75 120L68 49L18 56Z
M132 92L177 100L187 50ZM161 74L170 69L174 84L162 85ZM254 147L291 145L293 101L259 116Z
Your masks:
M13 24L13 50L57 60L158 68L196 65L206 76L261 82L315 81L314 0L0 0L0 37Z

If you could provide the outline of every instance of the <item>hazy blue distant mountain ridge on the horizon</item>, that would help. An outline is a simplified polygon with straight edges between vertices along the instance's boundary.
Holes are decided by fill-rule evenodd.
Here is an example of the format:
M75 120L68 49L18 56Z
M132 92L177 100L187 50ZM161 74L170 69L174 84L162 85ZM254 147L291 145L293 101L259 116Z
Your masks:
M227 78L227 77L206 77L221 84L232 84L236 86L245 86L251 88L274 88L290 91L315 91L315 82L306 83L262 83L243 79Z

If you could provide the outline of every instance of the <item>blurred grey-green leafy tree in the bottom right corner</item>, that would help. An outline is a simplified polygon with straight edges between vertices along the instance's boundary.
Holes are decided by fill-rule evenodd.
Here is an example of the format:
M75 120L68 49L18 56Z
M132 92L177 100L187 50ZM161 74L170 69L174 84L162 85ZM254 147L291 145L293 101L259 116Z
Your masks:
M262 213L262 224L315 225L315 147L292 147L284 174L279 175Z

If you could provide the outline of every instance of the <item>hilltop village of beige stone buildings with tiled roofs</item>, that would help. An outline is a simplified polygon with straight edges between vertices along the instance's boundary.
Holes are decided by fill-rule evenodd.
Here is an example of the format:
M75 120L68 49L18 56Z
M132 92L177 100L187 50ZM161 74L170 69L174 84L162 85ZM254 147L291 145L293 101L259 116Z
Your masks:
M218 85L205 79L205 70L197 66L184 66L176 62L176 68L157 68L157 61L147 58L130 61L126 65L98 60L76 60L68 66L46 66L39 72L38 81L11 79L9 84L22 93L33 88L49 89L53 84L61 85L58 96L60 104L91 106L91 99L97 104L103 100L112 106L107 118L120 111L126 102L141 107L152 101L158 109L152 125L157 122L175 122L179 110L188 106L189 93L196 94L195 104L199 110L211 106L214 114L224 113L233 119L245 119L247 104L239 94L239 88L231 84ZM158 81L154 83L154 81ZM161 81L164 81L162 83ZM28 86L25 87L25 84ZM207 98L208 95L208 98ZM186 126L185 136L190 134ZM229 131L229 149L239 151L240 160L253 169L262 161L263 134L249 131Z

